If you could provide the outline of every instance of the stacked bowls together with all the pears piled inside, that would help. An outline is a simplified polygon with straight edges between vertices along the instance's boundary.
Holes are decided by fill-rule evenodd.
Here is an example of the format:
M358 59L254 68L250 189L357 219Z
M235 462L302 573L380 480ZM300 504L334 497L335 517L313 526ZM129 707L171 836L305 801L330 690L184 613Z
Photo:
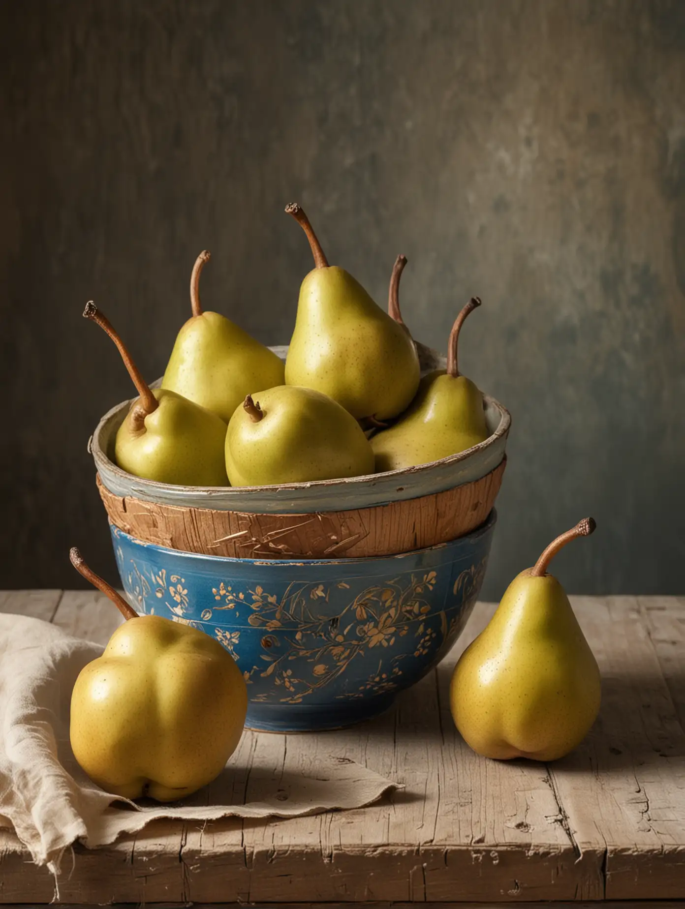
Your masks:
M90 441L126 595L139 613L223 644L247 683L247 725L337 728L387 709L456 641L483 582L510 417L447 356L415 341L393 266L387 310L314 268L290 343L268 348L200 303L148 385Z

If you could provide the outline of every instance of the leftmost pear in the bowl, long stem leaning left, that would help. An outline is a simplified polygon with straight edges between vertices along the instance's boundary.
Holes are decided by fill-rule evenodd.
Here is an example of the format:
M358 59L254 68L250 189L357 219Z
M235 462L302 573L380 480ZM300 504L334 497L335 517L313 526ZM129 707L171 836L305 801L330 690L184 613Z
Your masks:
M224 421L176 392L153 391L92 300L86 304L84 317L112 338L140 395L116 432L116 464L129 474L157 483L226 486Z

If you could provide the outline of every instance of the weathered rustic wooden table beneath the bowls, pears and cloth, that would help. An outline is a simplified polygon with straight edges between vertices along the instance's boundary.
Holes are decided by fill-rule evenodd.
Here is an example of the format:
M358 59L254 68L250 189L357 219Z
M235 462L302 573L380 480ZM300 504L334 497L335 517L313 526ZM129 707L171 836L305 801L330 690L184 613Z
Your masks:
M336 733L252 734L251 754L297 774L325 738L405 784L369 808L287 821L151 825L65 856L66 904L526 903L685 900L685 598L575 597L603 674L599 720L555 764L497 763L461 741L448 679L494 606L478 604L438 670L382 718ZM100 594L0 593L106 642L118 618ZM245 768L245 794L258 780ZM0 902L49 903L54 882L0 835Z

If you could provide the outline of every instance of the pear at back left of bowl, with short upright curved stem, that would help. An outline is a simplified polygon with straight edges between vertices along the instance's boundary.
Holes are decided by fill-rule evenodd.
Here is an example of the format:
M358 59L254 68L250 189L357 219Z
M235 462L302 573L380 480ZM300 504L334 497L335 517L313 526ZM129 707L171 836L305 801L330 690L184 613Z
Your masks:
M200 253L193 267L193 315L176 337L162 388L207 407L228 423L248 392L283 385L285 367L273 351L224 315L203 312L199 281L209 257L207 250Z

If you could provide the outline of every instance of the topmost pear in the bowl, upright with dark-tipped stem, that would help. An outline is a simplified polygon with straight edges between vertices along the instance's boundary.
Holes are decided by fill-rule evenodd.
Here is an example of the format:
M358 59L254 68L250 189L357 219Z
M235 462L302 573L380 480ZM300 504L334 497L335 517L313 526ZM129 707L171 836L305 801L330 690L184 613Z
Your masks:
M345 269L328 265L297 203L286 211L305 231L316 265L299 291L287 385L323 392L358 419L398 415L416 394L420 375L406 326L384 313Z

